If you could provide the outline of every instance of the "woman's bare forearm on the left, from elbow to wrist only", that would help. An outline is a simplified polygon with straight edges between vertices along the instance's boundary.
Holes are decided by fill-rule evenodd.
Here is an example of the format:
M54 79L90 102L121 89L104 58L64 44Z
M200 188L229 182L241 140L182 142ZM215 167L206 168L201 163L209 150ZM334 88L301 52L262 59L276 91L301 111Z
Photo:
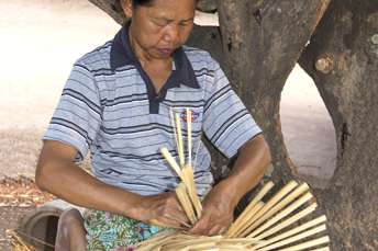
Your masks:
M142 196L102 183L68 160L40 164L44 166L36 174L41 189L75 205L137 218L133 207Z

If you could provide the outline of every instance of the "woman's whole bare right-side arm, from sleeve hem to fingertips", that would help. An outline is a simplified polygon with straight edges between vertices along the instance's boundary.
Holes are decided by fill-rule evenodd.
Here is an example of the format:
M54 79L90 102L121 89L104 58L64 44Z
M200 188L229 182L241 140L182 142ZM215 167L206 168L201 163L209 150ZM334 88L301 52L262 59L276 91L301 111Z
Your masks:
M225 231L233 221L238 201L259 182L269 162L269 147L263 135L247 141L241 148L230 175L204 198L202 217L191 232L213 236Z

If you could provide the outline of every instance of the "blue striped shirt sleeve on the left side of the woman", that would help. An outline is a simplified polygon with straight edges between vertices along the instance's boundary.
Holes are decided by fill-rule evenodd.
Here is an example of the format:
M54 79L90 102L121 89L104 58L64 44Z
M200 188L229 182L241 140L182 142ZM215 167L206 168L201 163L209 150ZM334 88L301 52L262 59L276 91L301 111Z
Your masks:
M76 62L43 139L75 147L76 160L81 161L96 140L101 114L93 75L85 65Z

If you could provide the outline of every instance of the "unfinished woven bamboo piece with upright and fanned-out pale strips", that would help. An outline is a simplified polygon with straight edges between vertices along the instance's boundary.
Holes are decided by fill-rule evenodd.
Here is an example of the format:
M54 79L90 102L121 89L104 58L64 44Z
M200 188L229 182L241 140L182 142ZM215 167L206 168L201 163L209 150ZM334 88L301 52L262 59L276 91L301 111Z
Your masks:
M184 157L179 115L171 112L170 116L179 163L166 148L162 149L162 155L181 180L176 189L176 194L190 224L194 225L201 217L202 206L196 192L191 167L191 113L187 109L187 147L189 153L187 162ZM224 236L199 237L179 229L167 229L152 239L141 242L136 250L330 250L326 246L330 239L324 233L326 230L325 216L308 219L310 218L309 215L316 208L315 199L309 192L308 184L291 181L271 195L269 192L273 187L273 182L266 183ZM300 224L298 224L299 220Z

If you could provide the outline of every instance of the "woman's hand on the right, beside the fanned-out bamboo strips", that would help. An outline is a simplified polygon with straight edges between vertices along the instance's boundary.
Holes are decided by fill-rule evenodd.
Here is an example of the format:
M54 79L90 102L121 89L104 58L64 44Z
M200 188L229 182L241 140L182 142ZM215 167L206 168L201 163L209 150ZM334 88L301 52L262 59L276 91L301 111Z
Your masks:
M200 236L224 233L233 223L235 206L233 193L225 183L219 183L204 198L202 217L189 232Z

